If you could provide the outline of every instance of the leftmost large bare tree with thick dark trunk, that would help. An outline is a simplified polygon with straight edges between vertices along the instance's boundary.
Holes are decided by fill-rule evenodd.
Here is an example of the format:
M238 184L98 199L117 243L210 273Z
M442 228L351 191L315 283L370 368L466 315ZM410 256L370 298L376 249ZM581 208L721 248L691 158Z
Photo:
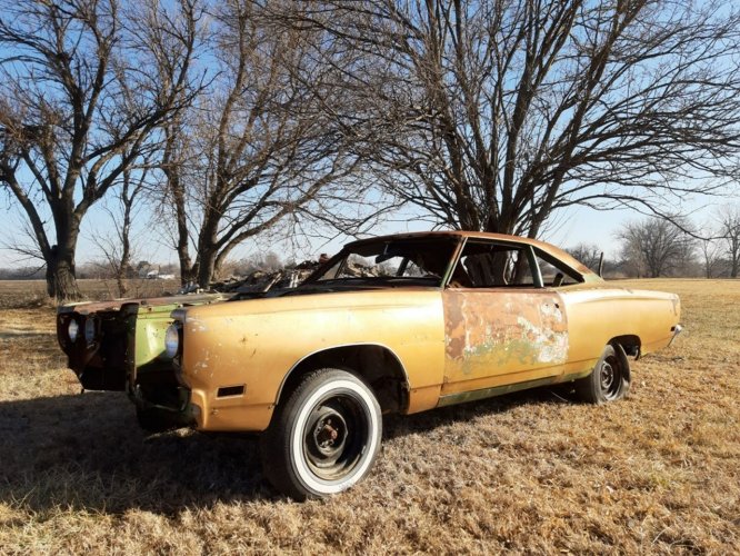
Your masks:
M0 187L33 230L49 296L77 299L80 224L123 172L152 148L152 133L189 91L198 10L182 0L169 27L143 28L156 4L116 0L0 4ZM172 11L172 10L170 10ZM164 16L163 16L164 17ZM157 38L166 34L167 52ZM174 79L148 71L170 60ZM188 93L186 93L186 97Z

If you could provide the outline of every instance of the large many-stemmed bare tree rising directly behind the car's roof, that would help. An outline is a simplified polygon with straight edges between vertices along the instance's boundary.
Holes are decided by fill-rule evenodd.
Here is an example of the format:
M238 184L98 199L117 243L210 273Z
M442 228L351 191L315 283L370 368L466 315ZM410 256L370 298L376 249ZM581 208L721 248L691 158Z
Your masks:
M343 49L331 112L398 196L453 228L536 237L557 209L670 217L740 152L727 2L311 2L280 17ZM716 180L703 178L716 177Z

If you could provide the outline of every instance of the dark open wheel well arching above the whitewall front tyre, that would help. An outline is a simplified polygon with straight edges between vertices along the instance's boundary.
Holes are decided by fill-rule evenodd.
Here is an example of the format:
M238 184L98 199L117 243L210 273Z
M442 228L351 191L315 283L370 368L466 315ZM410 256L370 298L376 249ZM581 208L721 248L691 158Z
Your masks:
M409 383L401 361L387 347L368 344L329 348L302 359L283 380L278 404L306 374L327 367L347 370L368 383L383 413L399 413L408 406Z

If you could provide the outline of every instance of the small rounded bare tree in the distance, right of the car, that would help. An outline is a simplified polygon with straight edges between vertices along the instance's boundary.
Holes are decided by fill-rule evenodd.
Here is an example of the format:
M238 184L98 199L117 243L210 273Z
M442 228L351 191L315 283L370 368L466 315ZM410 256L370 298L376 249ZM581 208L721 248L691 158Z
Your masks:
M694 239L683 228L688 228L686 222L679 227L654 217L626 224L619 232L622 259L637 270L638 278L643 274L658 278L684 271L692 258Z

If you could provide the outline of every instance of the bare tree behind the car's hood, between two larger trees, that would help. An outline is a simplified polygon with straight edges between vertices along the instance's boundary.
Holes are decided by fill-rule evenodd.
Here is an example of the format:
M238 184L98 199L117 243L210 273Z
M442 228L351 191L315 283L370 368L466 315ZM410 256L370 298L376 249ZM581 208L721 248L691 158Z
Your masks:
M247 238L350 201L342 180L359 160L321 110L337 92L322 86L332 69L310 56L316 32L272 24L258 2L226 2L212 17L218 75L164 129L162 156L181 280L201 287Z

